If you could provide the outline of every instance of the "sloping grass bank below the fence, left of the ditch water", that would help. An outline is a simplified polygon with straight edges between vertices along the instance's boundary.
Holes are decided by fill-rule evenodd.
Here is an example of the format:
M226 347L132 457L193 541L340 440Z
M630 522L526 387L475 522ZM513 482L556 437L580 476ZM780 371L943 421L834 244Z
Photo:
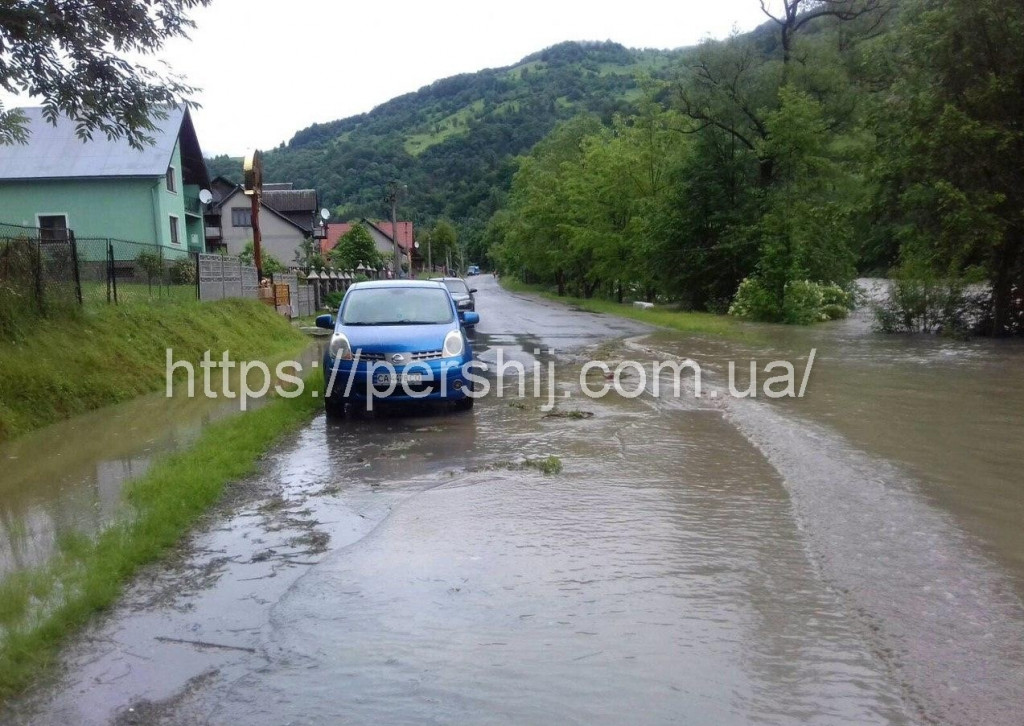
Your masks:
M0 441L158 390L166 349L236 359L292 352L306 338L255 300L86 306L0 341Z

